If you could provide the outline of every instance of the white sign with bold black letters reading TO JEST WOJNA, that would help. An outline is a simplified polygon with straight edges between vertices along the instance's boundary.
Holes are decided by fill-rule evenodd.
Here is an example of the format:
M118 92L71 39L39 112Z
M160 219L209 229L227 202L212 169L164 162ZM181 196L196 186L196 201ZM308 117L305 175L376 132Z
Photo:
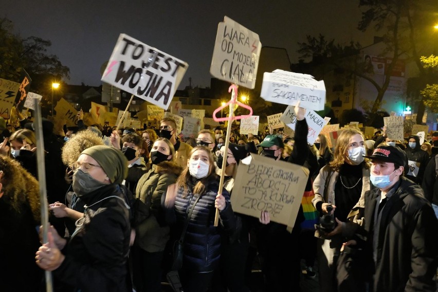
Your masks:
M120 34L102 81L168 109L188 64Z

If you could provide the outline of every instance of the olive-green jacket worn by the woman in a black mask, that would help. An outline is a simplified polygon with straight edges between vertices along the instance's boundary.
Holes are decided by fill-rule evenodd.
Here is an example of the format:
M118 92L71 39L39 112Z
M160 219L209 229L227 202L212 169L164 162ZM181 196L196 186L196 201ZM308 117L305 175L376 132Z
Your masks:
M150 215L136 227L135 243L148 252L165 249L169 240L169 226L165 224L161 196L168 186L175 183L182 169L174 162L161 162L153 165L137 184L135 197L145 203L150 200Z

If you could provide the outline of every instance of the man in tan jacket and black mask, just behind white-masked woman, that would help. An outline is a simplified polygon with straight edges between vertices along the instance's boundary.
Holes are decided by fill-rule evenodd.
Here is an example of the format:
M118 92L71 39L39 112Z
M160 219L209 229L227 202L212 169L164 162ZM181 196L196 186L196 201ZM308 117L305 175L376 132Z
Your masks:
M160 138L168 139L175 148L175 163L183 169L187 167L187 159L193 147L179 140L176 122L171 118L164 118L160 122Z

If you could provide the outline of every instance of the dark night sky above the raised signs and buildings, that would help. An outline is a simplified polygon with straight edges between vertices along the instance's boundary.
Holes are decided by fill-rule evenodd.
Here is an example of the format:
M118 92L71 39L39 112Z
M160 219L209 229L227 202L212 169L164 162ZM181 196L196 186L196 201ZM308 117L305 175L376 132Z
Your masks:
M5 0L2 0L2 2ZM98 86L100 67L109 59L118 35L126 33L189 63L180 88L210 86L210 63L217 24L227 15L259 34L263 46L286 48L297 62L298 42L306 34L339 43L372 43L373 34L356 29L357 0L20 0L1 5L23 38L50 40L50 52L70 68L68 84Z

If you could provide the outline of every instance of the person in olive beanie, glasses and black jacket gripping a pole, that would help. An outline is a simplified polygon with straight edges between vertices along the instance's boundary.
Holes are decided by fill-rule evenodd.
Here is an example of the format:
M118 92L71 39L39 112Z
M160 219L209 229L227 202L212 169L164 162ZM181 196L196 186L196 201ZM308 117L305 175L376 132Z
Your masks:
M127 175L120 150L97 145L84 150L71 168L73 190L85 202L69 241L50 228L36 264L65 285L64 291L128 291L130 207L119 184Z

